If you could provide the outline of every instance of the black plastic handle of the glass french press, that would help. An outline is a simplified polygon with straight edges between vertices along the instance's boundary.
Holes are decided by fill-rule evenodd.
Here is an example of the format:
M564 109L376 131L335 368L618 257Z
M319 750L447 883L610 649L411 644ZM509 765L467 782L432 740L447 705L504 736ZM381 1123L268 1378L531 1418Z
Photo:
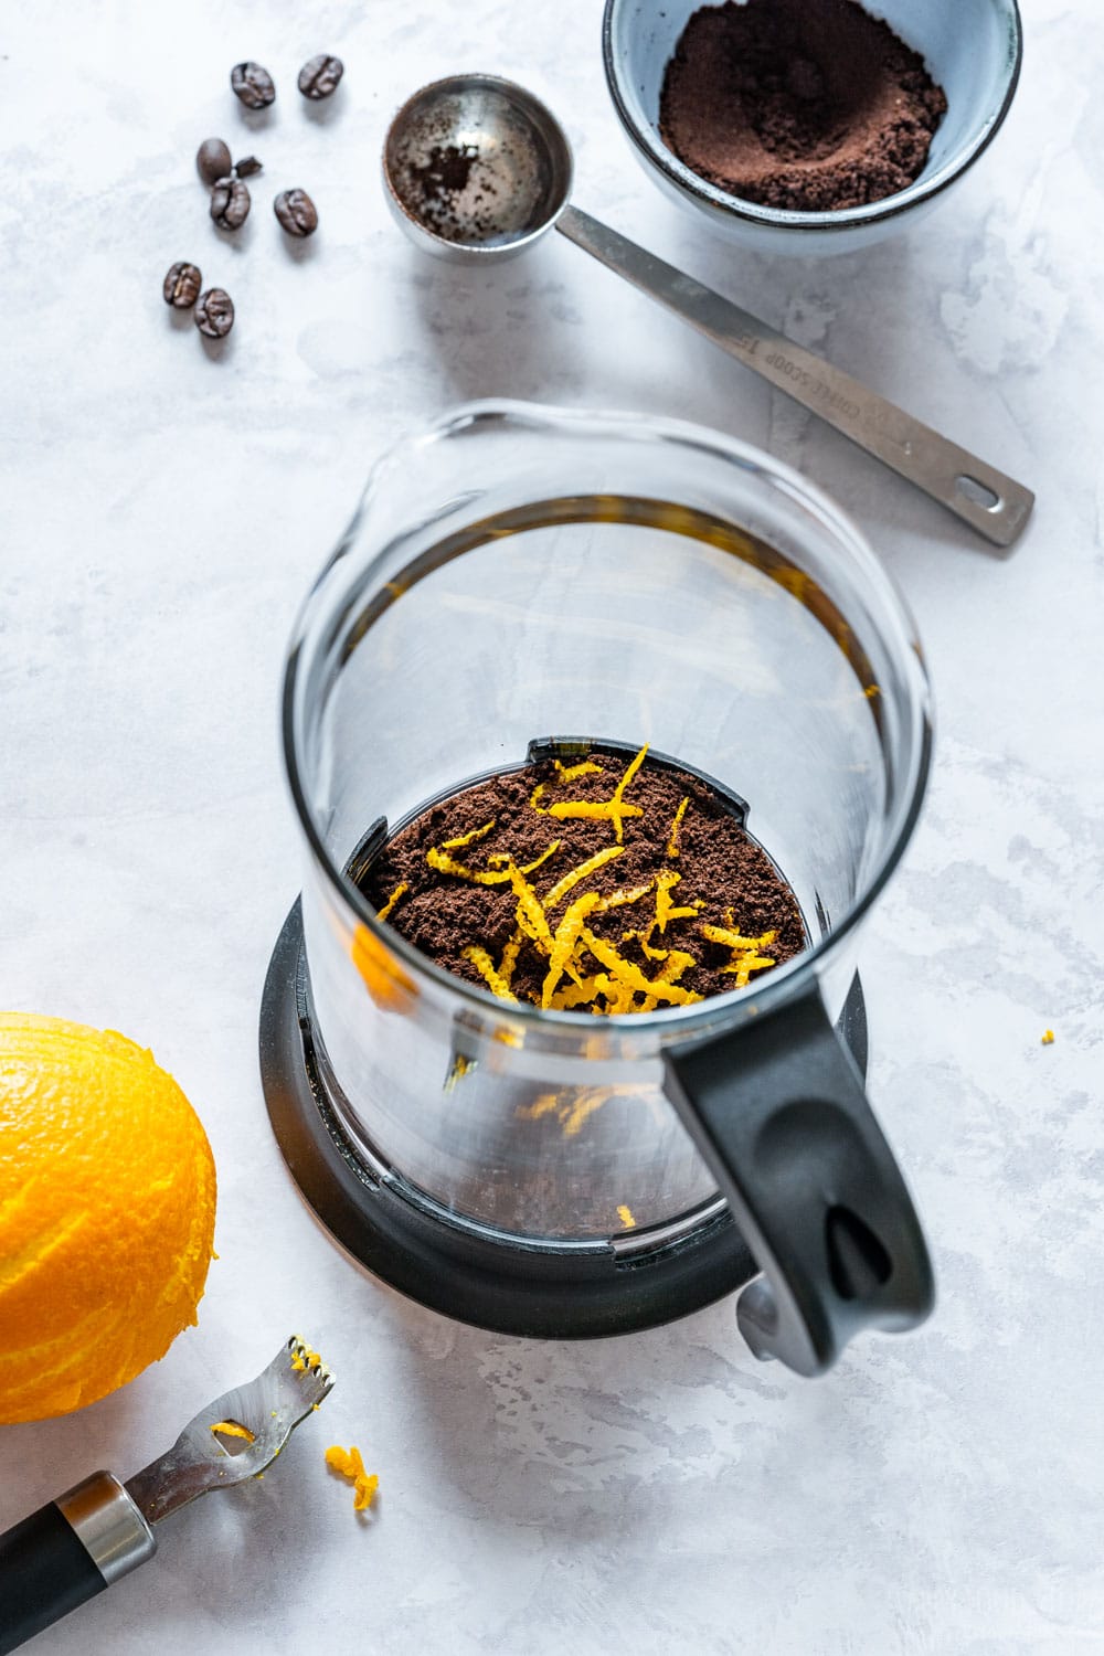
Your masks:
M664 1063L763 1272L737 1307L755 1355L823 1374L859 1330L922 1323L935 1283L920 1220L819 989Z

